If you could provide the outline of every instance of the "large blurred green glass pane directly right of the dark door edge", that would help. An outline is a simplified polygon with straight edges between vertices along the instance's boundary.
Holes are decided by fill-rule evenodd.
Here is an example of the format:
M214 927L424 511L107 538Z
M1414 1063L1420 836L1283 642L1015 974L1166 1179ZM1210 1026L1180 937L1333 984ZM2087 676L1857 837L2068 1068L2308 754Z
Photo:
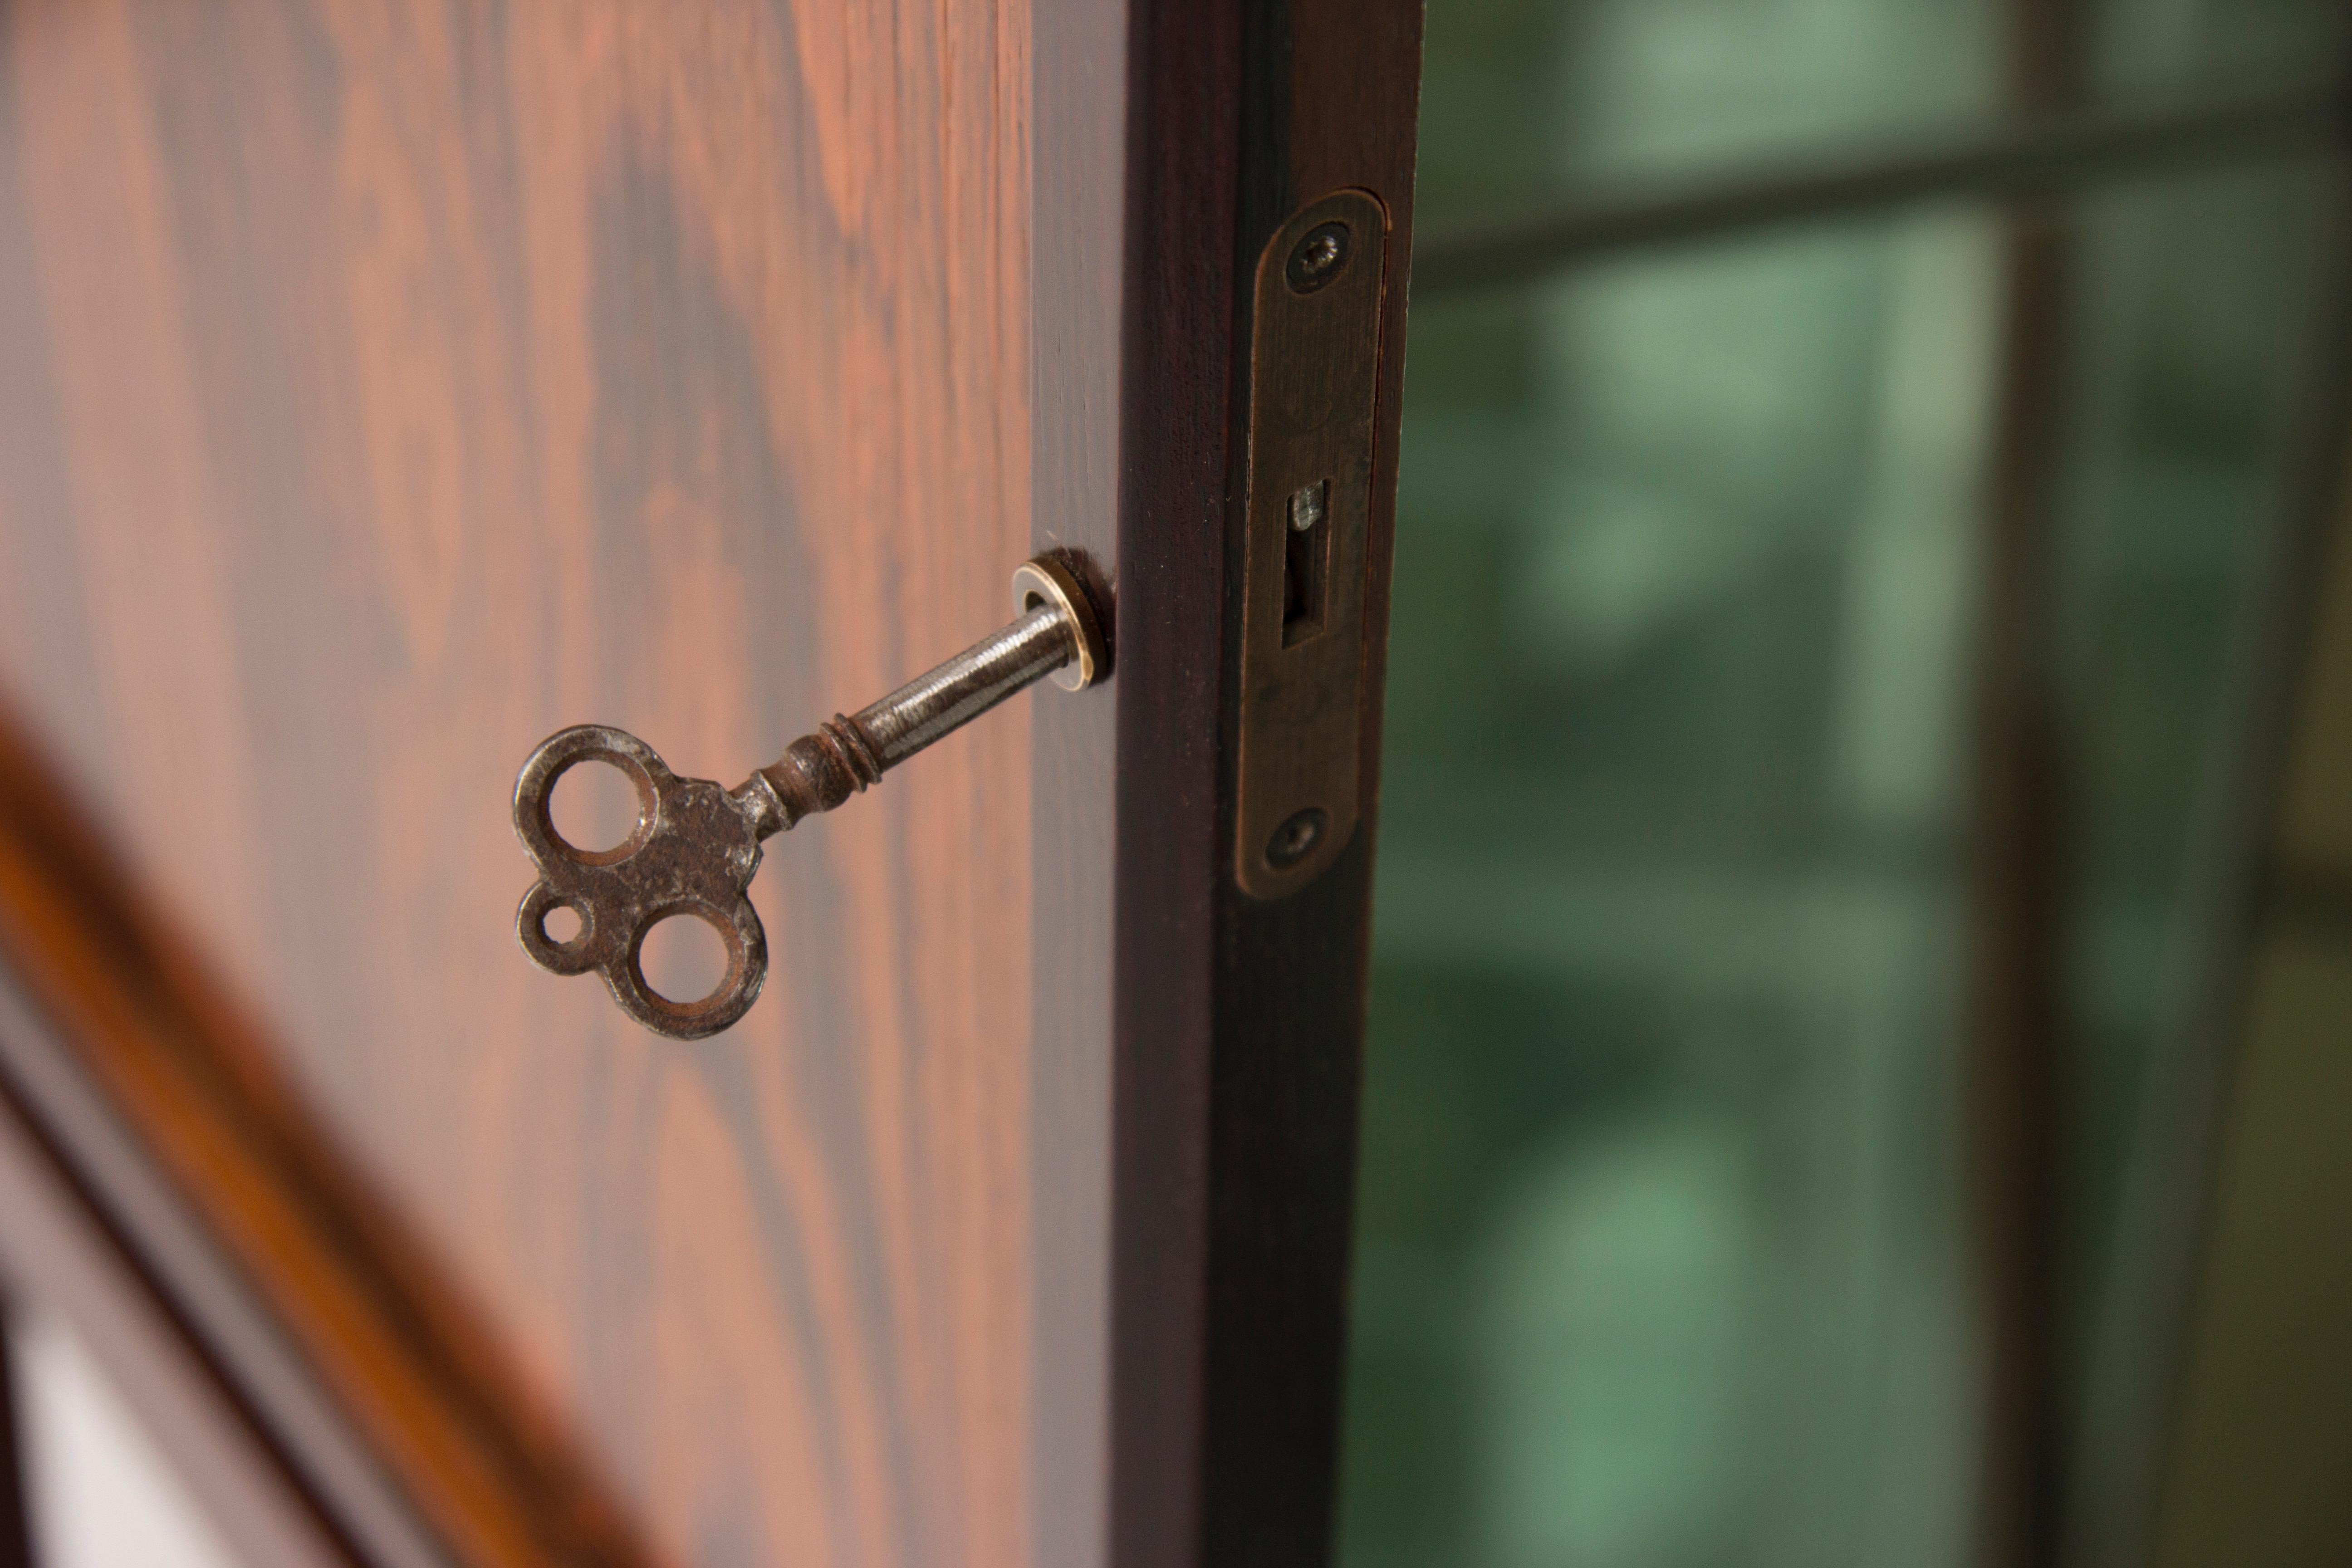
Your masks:
M1352 1566L1952 1561L1992 308L1938 219L1416 315Z

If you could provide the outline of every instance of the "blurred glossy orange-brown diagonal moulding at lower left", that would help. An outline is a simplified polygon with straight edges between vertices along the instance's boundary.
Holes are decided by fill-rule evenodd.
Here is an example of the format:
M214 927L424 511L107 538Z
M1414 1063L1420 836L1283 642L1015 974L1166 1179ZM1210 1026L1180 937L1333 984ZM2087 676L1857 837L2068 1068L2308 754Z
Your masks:
M155 1326L118 1347L212 1387L205 1429L242 1429L278 1469L249 1490L308 1497L341 1561L656 1561L5 715L0 964L0 1143L21 1173L45 1150L47 1190L82 1194L38 1204L24 1175L26 1213L139 1281ZM26 1253L28 1288L64 1255ZM89 1291L61 1302L99 1309Z

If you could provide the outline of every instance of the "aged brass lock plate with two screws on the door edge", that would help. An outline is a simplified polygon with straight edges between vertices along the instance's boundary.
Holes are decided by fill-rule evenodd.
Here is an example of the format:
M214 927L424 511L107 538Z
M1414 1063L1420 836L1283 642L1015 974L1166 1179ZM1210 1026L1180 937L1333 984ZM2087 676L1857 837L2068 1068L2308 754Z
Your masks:
M1235 792L1256 898L1296 893L1355 837L1385 277L1388 209L1367 190L1305 207L1258 256Z

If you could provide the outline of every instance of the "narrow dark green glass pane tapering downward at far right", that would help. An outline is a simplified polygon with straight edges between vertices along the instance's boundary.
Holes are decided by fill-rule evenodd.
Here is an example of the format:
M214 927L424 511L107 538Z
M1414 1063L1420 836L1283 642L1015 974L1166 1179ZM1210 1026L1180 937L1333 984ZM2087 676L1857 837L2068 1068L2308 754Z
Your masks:
M2187 898L2239 743L2237 661L2296 461L2284 442L2328 200L2324 169L2277 169L2124 190L2086 214L2060 541L2077 1316L2100 1312L2133 1159L2164 1157L2136 1147L2145 1077L2197 973L2192 945L2213 940Z

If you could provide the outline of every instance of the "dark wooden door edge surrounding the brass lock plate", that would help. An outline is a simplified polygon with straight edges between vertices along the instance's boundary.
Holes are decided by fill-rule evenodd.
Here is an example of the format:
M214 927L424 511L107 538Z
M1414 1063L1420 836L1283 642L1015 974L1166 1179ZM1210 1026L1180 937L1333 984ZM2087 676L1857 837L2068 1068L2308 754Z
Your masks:
M1294 1568L1336 1540L1421 5L1136 0L1129 71L1110 1561ZM1249 294L1334 190L1392 221L1362 806L1261 903L1230 849Z

